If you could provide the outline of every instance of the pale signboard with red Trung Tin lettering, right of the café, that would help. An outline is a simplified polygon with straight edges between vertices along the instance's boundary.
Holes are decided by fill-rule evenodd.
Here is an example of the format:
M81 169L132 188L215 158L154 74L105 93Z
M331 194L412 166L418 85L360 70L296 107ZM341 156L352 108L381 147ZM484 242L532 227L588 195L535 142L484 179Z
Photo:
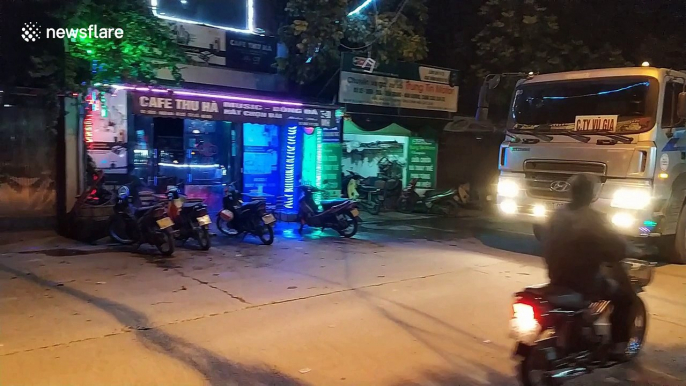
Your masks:
M342 55L339 102L404 109L457 111L457 71L415 63L379 64Z

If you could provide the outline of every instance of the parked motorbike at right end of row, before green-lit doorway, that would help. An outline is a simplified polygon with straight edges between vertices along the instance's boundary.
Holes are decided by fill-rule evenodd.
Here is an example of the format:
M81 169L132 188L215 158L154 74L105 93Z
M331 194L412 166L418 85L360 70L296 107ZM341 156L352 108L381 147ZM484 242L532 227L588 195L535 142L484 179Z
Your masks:
M300 186L302 197L298 201L299 232L305 225L315 228L331 228L343 237L355 236L359 225L360 211L354 201L348 199L321 201L322 212L314 201L314 193L321 190L314 186Z

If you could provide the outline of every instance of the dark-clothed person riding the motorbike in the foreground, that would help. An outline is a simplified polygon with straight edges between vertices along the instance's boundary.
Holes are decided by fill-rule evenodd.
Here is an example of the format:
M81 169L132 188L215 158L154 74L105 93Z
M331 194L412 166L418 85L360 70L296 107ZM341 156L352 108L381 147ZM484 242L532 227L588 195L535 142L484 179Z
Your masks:
M605 215L591 209L596 179L579 174L569 181L571 202L550 218L544 235L543 256L552 285L583 294L589 300L610 300L613 311L612 359L624 360L628 346L635 292L621 267L627 245L608 224ZM612 265L612 278L601 272Z

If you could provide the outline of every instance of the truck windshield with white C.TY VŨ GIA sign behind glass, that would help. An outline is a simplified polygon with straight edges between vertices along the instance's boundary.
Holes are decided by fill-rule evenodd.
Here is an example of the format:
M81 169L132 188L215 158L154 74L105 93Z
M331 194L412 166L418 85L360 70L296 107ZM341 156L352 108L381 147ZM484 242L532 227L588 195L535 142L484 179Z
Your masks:
M655 123L657 80L614 77L523 84L515 91L510 129L555 133L636 133Z

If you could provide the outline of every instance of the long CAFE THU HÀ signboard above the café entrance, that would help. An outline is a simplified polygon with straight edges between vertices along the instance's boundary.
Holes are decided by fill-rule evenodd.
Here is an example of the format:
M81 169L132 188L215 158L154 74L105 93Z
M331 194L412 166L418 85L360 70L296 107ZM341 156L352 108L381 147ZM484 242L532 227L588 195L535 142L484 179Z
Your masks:
M133 113L167 118L332 127L335 108L235 102L221 97L133 92Z

